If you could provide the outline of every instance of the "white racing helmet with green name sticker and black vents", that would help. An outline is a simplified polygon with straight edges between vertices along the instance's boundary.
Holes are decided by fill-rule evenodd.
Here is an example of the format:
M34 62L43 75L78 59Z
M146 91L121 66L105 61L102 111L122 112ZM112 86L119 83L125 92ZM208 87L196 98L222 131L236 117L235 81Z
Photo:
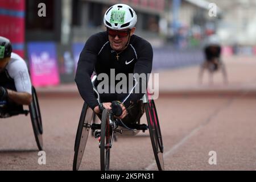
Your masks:
M117 4L110 7L104 15L104 24L113 30L133 28L137 23L135 11L128 5Z

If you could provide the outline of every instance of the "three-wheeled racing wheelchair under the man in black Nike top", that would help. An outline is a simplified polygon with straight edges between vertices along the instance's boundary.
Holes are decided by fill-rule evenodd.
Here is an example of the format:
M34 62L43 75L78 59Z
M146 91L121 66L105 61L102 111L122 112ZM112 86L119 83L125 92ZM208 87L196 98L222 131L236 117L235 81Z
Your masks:
M94 80L96 80L96 76L94 76L92 79L93 86ZM100 96L96 90L96 87L94 86L93 89L94 93L97 95L97 100L100 103ZM121 119L115 119L113 117L113 110L106 109L102 112L101 123L96 124L94 121L96 118L94 111L88 107L86 102L84 102L75 139L73 171L79 170L90 129L95 131L95 137L99 138L100 141L100 165L102 171L109 170L110 149L113 146L113 139L115 135L136 135L140 130L143 132L146 130L149 131L156 165L158 166L159 171L164 170L163 140L154 100L150 100L150 95L144 94L139 102L143 106L142 113L146 113L147 125L141 125L140 119L138 121L131 122L130 124L125 124L121 121Z

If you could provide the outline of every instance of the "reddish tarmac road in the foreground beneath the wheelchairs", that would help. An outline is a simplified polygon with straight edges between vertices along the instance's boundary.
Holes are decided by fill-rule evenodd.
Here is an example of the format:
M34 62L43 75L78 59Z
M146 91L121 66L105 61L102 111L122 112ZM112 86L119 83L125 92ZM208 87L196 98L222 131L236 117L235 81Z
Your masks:
M255 97L168 97L156 100L166 170L255 170ZM39 97L46 165L38 164L30 117L0 120L0 170L72 170L82 108L80 97ZM146 123L146 118L142 118ZM217 164L210 165L209 152ZM111 170L157 170L148 131L118 137ZM100 169L97 139L89 137L80 170Z

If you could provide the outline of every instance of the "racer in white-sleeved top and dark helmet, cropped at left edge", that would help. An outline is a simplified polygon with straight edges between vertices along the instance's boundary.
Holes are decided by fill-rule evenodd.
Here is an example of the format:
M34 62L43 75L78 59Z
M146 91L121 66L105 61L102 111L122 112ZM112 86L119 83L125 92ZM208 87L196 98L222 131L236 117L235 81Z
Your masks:
M31 92L25 61L12 52L10 40L0 36L0 114L3 111L22 109L22 105L30 105Z

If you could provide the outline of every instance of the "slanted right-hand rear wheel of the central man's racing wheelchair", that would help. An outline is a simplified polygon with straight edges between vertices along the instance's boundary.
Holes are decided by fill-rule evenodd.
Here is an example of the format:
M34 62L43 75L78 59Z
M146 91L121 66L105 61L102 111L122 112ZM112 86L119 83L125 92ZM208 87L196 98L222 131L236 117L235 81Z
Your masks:
M145 104L145 109L156 165L158 166L159 171L162 171L164 170L163 140L154 100L149 100L149 103Z

